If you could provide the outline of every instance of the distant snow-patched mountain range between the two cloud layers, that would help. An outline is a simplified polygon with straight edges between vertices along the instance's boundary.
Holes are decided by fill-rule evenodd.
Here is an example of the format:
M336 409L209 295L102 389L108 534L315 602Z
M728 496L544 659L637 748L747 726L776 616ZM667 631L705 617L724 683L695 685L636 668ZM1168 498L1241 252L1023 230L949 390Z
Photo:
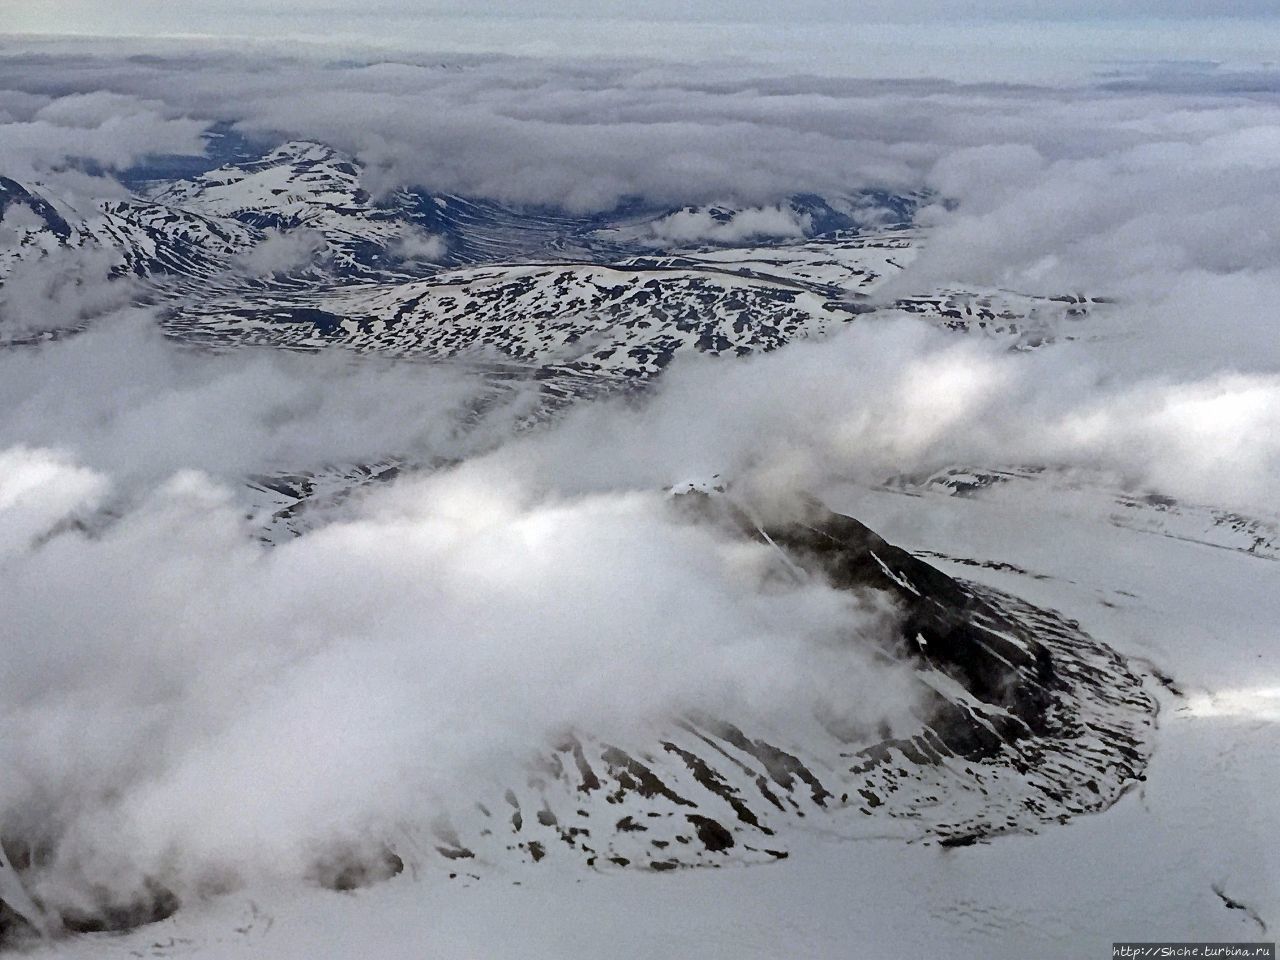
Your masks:
M590 216L421 191L378 200L352 159L302 141L88 210L0 186L0 280L22 260L105 251L115 275L169 305L173 335L205 344L472 352L608 384L684 351L768 351L868 312L1036 346L1076 335L1097 307L1004 291L870 300L927 242L911 225L923 196Z

